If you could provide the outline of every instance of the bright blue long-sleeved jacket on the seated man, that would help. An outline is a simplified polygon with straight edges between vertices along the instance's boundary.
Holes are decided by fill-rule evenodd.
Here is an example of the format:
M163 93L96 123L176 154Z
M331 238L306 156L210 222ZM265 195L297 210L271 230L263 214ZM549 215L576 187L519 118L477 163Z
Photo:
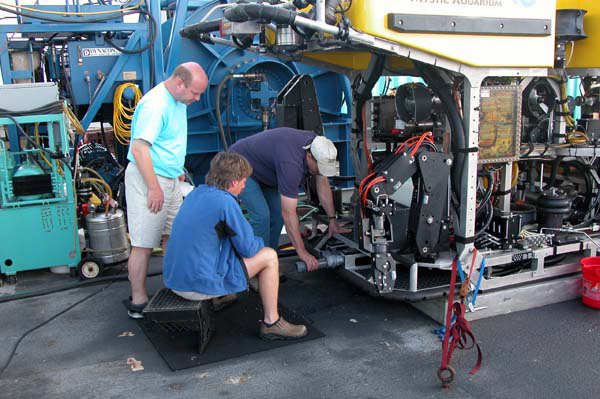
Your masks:
M163 261L165 287L210 295L244 291L246 272L235 251L251 258L263 247L231 193L198 186L173 221Z

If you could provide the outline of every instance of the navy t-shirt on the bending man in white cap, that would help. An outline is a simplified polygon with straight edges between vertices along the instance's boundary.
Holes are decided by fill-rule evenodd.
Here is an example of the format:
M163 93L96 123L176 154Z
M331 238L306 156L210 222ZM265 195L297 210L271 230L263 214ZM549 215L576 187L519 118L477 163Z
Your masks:
M229 151L243 155L252 165L252 177L281 195L298 197L298 188L308 173L306 150L317 135L307 130L278 127L246 137Z

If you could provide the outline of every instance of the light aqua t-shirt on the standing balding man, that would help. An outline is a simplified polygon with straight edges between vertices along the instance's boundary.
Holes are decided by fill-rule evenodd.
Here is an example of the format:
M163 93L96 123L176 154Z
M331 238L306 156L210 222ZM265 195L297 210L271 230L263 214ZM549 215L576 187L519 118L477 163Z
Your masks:
M142 139L151 144L154 173L175 178L183 174L187 150L187 106L175 101L164 83L142 97L131 121L131 142ZM131 145L127 159L135 163Z

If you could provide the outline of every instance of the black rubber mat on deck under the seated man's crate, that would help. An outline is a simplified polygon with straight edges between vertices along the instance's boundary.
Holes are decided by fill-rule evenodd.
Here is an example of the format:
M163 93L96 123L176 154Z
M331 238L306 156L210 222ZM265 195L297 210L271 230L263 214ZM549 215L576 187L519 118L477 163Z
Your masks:
M215 313L216 331L202 354L197 351L195 333L166 334L161 330L148 329L143 320L139 321L139 325L173 371L295 345L325 335L312 326L310 320L283 306L279 307L279 314L291 323L306 324L308 335L299 340L260 339L258 329L262 319L262 305L258 294L254 292L239 295L234 305Z

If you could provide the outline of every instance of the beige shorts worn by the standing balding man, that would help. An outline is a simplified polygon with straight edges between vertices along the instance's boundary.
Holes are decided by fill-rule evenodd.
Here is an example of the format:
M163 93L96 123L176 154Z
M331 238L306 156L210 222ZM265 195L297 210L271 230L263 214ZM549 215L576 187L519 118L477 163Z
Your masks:
M127 226L131 245L140 248L157 248L163 235L171 234L173 219L183 198L179 179L156 176L163 190L165 202L158 213L148 209L148 186L139 169L132 162L125 170L125 198L127 199Z

